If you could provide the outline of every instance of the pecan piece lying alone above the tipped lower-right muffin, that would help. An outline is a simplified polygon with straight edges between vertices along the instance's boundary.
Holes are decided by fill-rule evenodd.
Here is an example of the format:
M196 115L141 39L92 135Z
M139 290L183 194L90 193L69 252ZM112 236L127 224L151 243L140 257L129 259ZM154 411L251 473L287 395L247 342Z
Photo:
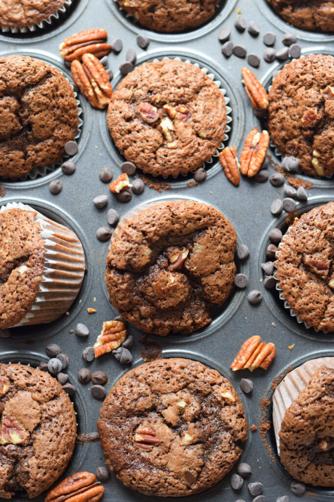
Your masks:
M255 335L243 343L230 366L232 371L246 368L249 371L256 368L268 369L276 355L276 347L273 343L260 343L260 340L261 338Z

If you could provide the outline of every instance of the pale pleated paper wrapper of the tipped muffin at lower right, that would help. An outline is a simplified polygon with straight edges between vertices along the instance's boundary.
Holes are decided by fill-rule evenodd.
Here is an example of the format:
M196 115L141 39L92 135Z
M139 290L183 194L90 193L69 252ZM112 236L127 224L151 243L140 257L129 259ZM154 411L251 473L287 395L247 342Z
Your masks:
M334 368L334 357L318 357L306 361L301 366L290 371L277 386L272 396L272 423L275 432L277 450L279 454L279 431L286 410L297 399L306 387L312 375L321 366Z

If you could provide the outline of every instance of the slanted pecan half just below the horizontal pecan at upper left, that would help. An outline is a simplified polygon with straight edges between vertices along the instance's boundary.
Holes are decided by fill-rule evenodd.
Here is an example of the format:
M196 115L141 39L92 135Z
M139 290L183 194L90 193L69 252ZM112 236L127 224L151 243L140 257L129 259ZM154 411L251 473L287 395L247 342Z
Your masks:
M75 59L71 64L72 77L83 95L94 108L105 108L113 88L103 65L93 54L84 54L82 64Z

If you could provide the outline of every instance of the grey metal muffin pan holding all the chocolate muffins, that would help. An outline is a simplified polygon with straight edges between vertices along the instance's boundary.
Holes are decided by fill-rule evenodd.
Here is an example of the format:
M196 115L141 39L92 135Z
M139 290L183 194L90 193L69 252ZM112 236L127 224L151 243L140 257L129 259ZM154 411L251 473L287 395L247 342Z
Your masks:
M253 38L248 34L239 33L233 26L234 20L241 9L247 23L254 20L260 27L261 33ZM286 32L292 32L297 37L297 43L302 47L302 53L325 52L332 53L334 34L306 33L298 28L286 24L270 8L267 0L222 0L219 3L216 15L204 26L181 34L159 34L138 24L123 12L120 12L114 0L76 0L71 13L64 17L60 23L52 25L46 30L27 34L0 34L0 53L27 54L41 58L50 64L59 67L71 79L68 68L59 56L59 44L64 38L80 30L88 28L105 28L109 34L109 41L114 38L123 40L124 48L118 55L109 54L109 66L114 71L113 87L116 87L122 78L118 67L125 60L127 49L133 47L137 52L136 65L146 60L165 56L189 58L198 62L200 66L210 69L219 78L222 78L226 95L230 98L229 106L232 108L231 132L229 133L229 146L234 145L238 153L243 146L244 139L252 127L261 127L260 121L253 115L250 102L241 83L241 68L249 67L247 61L232 55L226 59L221 54L221 44L218 41L218 32L222 26L228 25L232 29L230 39L233 43L246 46L248 53L257 53L261 57L259 68L251 70L264 85L271 82L272 72L284 63L278 61L271 64L262 59L265 45L262 36L267 31L276 33L275 49L283 47L281 37ZM136 44L136 35L143 33L151 42L147 50L140 49ZM227 85L227 87L226 87ZM221 309L214 310L212 323L206 328L191 335L171 335L159 337L150 335L149 340L159 343L163 357L189 357L197 359L208 366L220 371L226 376L236 391L239 393L244 405L248 425L258 426L261 418L259 400L272 396L271 384L273 379L280 375L289 366L297 366L307 359L322 355L334 354L334 335L315 333L298 324L284 308L283 302L278 298L277 291L265 290L263 286L260 264L265 259L265 249L269 243L268 234L271 228L279 226L286 229L285 213L273 217L270 213L270 203L275 198L283 198L283 187L274 188L269 181L260 184L254 179L242 178L239 187L234 187L225 177L219 162L214 158L213 164L208 168L207 179L192 188L187 186L193 180L192 175L187 178L161 179L170 185L170 190L158 193L145 187L143 194L133 195L128 204L118 202L109 192L108 184L100 181L98 173L102 167L110 167L114 172L114 179L121 173L120 164L122 157L112 145L106 126L106 110L93 109L79 94L80 104L84 113L82 133L78 141L79 152L72 158L77 165L77 170L72 176L66 176L60 168L35 180L9 181L0 180L6 190L0 203L21 201L31 206L36 206L42 213L70 226L79 236L85 250L88 271L85 276L77 300L69 310L69 315L64 315L59 320L49 325L16 328L12 330L11 338L0 338L0 360L7 362L25 362L37 365L39 361L47 360L45 346L48 343L58 343L62 351L69 355L70 363L68 373L70 381L77 389L74 397L74 406L80 433L96 432L96 420L99 417L101 401L92 398L90 388L92 384L82 385L77 381L77 372L81 367L89 366L92 371L101 369L108 374L106 390L109 391L116 381L131 366L121 366L112 354L107 354L92 363L85 363L81 357L82 350L93 345L100 333L103 321L113 319L117 312L108 300L104 284L105 259L108 242L97 240L95 232L100 226L108 226L106 221L107 210L115 208L122 218L128 211L143 203L167 199L193 199L205 202L219 209L236 229L238 244L244 243L250 251L250 258L245 262L237 261L238 272L247 275L249 283L245 290L233 289L230 298ZM270 152L273 160L279 163L279 158L274 151ZM270 174L274 172L269 167ZM137 172L136 176L140 173ZM155 178L146 175L152 181ZM309 200L299 202L299 213L309 210L314 205L333 200L333 178L311 179L306 175L300 178L313 182L312 190L308 190ZM48 185L51 180L60 179L63 189L58 195L49 192ZM97 209L93 204L96 195L108 194L108 205L104 209ZM259 305L252 306L247 301L247 294L253 289L262 292L263 300ZM94 297L96 301L94 301ZM97 312L88 314L87 308L94 307ZM75 329L78 322L89 327L90 335L79 338L69 334ZM275 326L272 325L275 324ZM139 338L142 332L129 326L129 333L134 335L133 365L143 362L141 357L142 344ZM229 365L238 352L243 341L251 335L259 334L262 341L274 342L276 357L267 371L258 369L250 374L247 370L232 372ZM290 351L289 345L294 345ZM245 395L240 390L240 379L251 378L254 390L251 395ZM271 409L267 409L267 419L270 420ZM248 462L252 468L252 475L244 482L242 489L233 491L227 475L224 480L210 490L188 497L192 502L234 502L244 499L250 502L253 498L247 489L248 482L260 481L263 483L263 494L267 501L274 502L278 496L289 495L292 502L296 497L289 489L291 478L280 464L273 435L269 431L269 447L271 447L275 462L272 462L267 449L262 442L259 432L249 431L248 440L244 445L241 461ZM87 470L95 472L96 468L104 464L104 455L100 443L77 445L74 458L66 469L64 476L77 471ZM231 474L235 469L231 471ZM63 476L63 477L64 477ZM118 500L145 501L152 497L125 488L115 476L111 475L105 484L106 491L103 500L109 502ZM314 500L314 496L321 502L334 500L334 489L314 488L307 486L303 500ZM38 497L42 501L44 497ZM22 493L14 497L15 501L24 500ZM168 498L167 500L175 500Z

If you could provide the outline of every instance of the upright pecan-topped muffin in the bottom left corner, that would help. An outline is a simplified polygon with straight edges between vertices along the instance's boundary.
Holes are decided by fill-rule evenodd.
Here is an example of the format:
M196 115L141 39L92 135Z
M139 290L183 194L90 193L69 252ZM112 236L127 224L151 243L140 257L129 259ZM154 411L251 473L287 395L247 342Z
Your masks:
M24 489L30 498L61 476L77 423L62 386L45 371L0 364L0 497Z

